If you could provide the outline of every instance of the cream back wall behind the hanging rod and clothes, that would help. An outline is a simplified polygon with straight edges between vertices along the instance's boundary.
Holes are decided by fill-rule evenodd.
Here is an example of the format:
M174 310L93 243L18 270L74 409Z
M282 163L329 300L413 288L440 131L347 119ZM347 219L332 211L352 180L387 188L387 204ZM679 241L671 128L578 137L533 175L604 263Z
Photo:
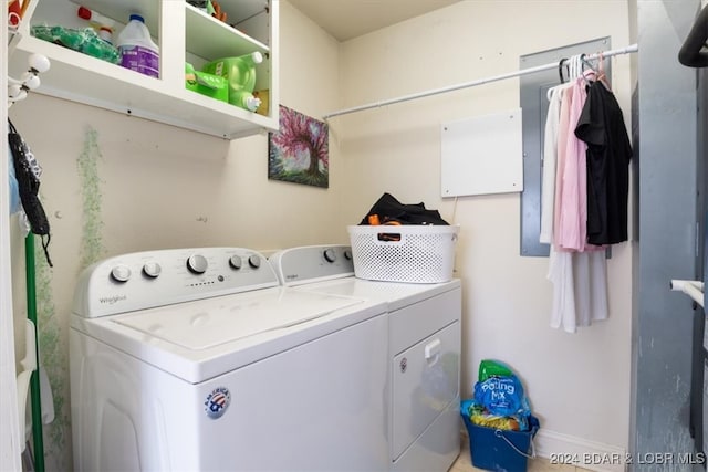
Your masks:
M614 0L462 1L343 43L342 107L512 72L519 55L605 35L623 48L629 44L627 14L626 2ZM613 60L612 78L626 119L628 56ZM479 361L497 358L520 373L546 439L559 433L550 436L626 449L629 244L616 245L608 261L610 319L566 334L549 326L548 259L519 256L519 195L462 197L457 203L440 198L440 124L518 106L513 78L332 118L350 186L343 214L355 221L389 191L405 202L424 201L459 223L464 396L471 391Z

